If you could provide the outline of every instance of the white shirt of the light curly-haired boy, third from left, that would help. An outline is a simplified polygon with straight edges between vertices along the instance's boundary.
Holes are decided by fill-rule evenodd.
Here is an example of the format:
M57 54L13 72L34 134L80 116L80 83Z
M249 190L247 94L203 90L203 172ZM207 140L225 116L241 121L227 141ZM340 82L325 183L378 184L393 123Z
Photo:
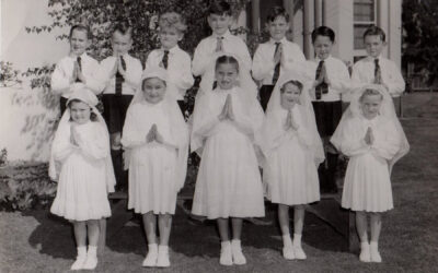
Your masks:
M145 69L159 67L164 56L164 48L152 50L146 60ZM185 93L194 84L191 56L177 45L169 50L169 81L173 84L172 95L176 100L183 100ZM170 86L168 86L170 87Z

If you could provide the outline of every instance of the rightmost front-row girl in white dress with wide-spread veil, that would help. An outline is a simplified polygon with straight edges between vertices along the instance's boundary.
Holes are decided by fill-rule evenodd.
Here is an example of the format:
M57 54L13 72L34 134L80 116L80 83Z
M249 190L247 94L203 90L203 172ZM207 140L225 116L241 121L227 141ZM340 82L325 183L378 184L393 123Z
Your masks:
M381 262L381 213L393 209L391 169L410 149L388 91L382 85L368 85L356 92L331 141L349 157L342 206L356 212L359 259Z

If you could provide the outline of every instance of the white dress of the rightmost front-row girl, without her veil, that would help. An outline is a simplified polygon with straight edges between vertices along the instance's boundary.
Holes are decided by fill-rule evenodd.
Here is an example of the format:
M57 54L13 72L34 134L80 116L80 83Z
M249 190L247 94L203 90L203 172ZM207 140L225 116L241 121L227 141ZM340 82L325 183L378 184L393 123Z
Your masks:
M374 142L365 143L368 128ZM341 151L349 156L342 206L353 211L384 212L393 209L388 161L400 150L395 126L383 116L368 120L362 116L346 121Z

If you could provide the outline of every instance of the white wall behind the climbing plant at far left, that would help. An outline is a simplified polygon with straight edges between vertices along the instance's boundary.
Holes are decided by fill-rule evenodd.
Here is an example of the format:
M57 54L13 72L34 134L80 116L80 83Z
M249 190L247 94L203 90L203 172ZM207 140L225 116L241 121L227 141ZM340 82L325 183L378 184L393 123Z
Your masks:
M68 54L67 41L56 40L54 33L27 34L25 26L50 23L48 0L1 0L0 59L14 69L51 64ZM24 79L25 80L25 79ZM42 90L31 90L27 81L21 86L0 88L0 149L8 150L8 159L47 161L57 105Z

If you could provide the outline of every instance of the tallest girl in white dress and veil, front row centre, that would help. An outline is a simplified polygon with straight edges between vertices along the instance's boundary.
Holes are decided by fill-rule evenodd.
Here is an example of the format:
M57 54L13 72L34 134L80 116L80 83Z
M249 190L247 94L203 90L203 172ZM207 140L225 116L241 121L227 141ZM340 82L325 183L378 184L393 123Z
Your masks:
M264 117L255 84L238 58L222 54L212 64L217 87L212 90L211 75L204 76L210 85L197 97L194 111L191 146L201 161L192 213L217 219L220 264L244 264L240 242L243 217L265 214L254 149Z

